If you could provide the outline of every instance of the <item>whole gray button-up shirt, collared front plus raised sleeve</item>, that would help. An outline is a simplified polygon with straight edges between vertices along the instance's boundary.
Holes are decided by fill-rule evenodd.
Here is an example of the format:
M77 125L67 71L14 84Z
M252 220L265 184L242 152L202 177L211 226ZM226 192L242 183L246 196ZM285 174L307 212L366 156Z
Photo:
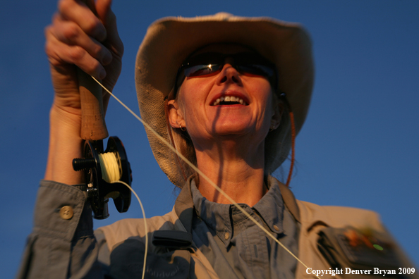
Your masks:
M262 224L296 253L296 223L284 210L279 188L272 186L260 203L253 209L247 206L246 210L260 216ZM35 205L34 228L28 237L17 278L106 278L109 250L103 233L93 233L92 211L84 187L42 180ZM194 199L201 201L197 206L199 216L212 210L215 215L222 215L223 208L228 208L226 218L217 217L214 223L206 217L211 225L196 216L193 218L193 241L220 278L293 278L296 262L285 255L284 249L268 240L259 228L241 216L242 213L229 205L219 204L220 209L217 204L206 205L208 201L202 199L196 186L194 189ZM73 216L63 218L61 211L68 206ZM209 208L204 209L205 206ZM233 225L229 226L226 220L233 221ZM224 239L226 232L229 232L227 240Z

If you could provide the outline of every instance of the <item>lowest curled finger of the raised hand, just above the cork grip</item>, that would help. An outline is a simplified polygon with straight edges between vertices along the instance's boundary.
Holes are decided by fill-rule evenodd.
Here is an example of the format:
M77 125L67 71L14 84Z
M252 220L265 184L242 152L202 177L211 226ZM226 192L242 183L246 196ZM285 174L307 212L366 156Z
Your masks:
M75 64L85 73L96 78L103 79L106 76L104 67L82 47L64 44L59 41L49 27L47 27L45 36L47 37L45 52L52 66L61 67L63 63Z

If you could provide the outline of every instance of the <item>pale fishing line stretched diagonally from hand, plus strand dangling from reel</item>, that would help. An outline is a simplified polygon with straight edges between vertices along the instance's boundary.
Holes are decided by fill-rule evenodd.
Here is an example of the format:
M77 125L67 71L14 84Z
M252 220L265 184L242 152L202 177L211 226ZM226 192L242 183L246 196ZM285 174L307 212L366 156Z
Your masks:
M185 161L191 168L193 168L194 171L196 171L200 176L202 176L202 178L204 178L205 180L207 180L207 182L212 185L212 187L214 187L219 193L221 193L226 199L229 200L229 202L231 202L231 204L234 204L234 206L236 206L236 208L238 210L240 210L241 212L243 212L243 214L245 214L245 216L247 216L251 221L253 221L253 223L255 223L255 225L257 225L262 231L264 231L266 233L266 235L268 235L269 237L272 238L272 240L274 240L275 242L277 242L282 248L284 248L286 250L286 252L289 252L289 254L291 254L291 256L294 257L294 259L296 259L299 263L301 263L303 266L305 266L305 268L309 268L308 266L305 265L305 263L303 263L303 261L301 261L300 259L298 259L298 257L296 255L293 254L293 252L291 252L288 248L286 248L284 246L284 244L282 244L281 242L279 242L279 240L277 240L276 237L274 237L274 235L272 235L271 233L269 233L269 231L267 229L265 229L260 223L258 223L255 218L253 218L252 216L250 216L249 213L247 213L243 207L239 206L228 194L226 194L226 192L224 192L223 190L221 190L220 187L218 187L214 182L212 182L212 180L210 180L207 175L205 175L204 173L202 173L202 171L200 171L195 165L193 165L193 163L191 163L188 159L186 159L185 156L183 156L178 150L176 150L169 142L167 142L164 137L162 137L161 135L159 135L156 131L154 131L153 128L150 127L150 125L148 125L147 123L145 123L144 120L142 120L140 118L140 116L138 116L137 114L135 114L133 111L130 110L130 108L128 108L128 106L126 106L126 104L123 104L123 102L121 100L119 100L114 94L112 94L106 87L104 87L104 85L102 85L101 82L99 82L97 79L95 79L95 77L93 77L93 80L95 80L106 92L108 92L112 97L114 97L114 99L116 99L116 101L119 101L119 104L121 104L124 108L126 108L135 118L137 118L142 125L144 125L145 128L147 128L148 130L150 130L150 132L152 132L159 140L161 140L162 142L164 142L164 144L166 144L167 147L169 147L169 149L171 149L172 151L174 151L183 161ZM125 183L124 183L125 184ZM136 194L135 194L136 196ZM141 206L142 207L142 206ZM147 232L147 228L146 228L146 232ZM147 233L145 234L147 235ZM146 249L147 249L147 245L146 245ZM145 267L145 266L144 266ZM145 268L143 268L144 271ZM318 277L317 275L315 275L315 277L317 277L318 279L320 279L320 277Z

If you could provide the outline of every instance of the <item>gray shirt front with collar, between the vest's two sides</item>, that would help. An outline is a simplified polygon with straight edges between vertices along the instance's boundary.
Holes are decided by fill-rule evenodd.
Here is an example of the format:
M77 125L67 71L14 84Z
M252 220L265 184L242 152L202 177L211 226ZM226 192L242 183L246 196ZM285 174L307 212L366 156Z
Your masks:
M284 206L275 181L255 206L240 205L298 256L298 223ZM295 278L297 260L243 212L232 204L209 202L194 180L190 186L197 214L193 242L220 278Z

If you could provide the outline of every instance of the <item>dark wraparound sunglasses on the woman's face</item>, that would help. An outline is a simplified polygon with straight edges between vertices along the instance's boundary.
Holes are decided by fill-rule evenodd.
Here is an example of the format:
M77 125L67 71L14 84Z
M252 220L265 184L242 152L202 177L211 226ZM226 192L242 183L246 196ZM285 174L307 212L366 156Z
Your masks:
M224 68L226 58L231 58L228 62L239 73L266 77L271 82L271 85L276 87L277 68L274 63L268 61L267 58L260 54L252 52L238 54L209 52L188 58L178 70L176 87L181 85L185 77L216 75Z

